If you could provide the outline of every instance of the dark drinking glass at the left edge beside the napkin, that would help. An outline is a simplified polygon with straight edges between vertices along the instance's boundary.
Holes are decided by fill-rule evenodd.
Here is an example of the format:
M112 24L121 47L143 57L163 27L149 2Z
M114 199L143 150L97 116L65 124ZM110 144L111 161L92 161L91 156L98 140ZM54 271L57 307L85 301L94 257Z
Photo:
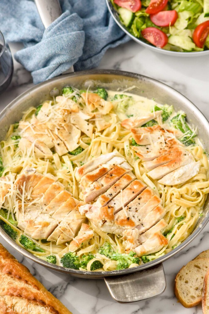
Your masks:
M12 55L8 44L0 32L0 94L5 91L11 82L13 74Z

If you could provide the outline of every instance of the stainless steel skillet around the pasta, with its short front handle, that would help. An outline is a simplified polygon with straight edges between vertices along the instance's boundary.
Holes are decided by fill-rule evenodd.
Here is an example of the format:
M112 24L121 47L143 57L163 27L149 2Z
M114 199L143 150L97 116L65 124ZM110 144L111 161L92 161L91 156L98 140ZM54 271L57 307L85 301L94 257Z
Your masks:
M49 99L50 91L53 88L56 87L61 91L63 87L69 85L84 89L89 84L91 84L92 88L100 85L106 89L117 91L122 91L126 88L135 86L131 90L133 94L142 95L150 99L155 98L155 100L161 104L166 103L173 105L176 111L185 111L188 120L198 127L199 137L204 140L204 148L209 151L209 123L190 100L169 86L152 78L115 70L91 70L65 74L29 89L13 100L0 113L0 140L5 137L9 125L21 119L23 111L30 106L38 106L39 103ZM0 235L18 252L29 257L34 262L52 270L71 274L76 277L90 279L99 277L104 278L105 283L115 300L119 302L133 302L159 295L165 290L166 282L162 262L182 250L201 232L202 228L209 220L208 209L209 201L207 200L204 206L203 216L199 219L195 230L182 244L180 244L180 246L155 261L120 271L84 272L63 268L47 263L27 252L24 248L18 246L1 228Z

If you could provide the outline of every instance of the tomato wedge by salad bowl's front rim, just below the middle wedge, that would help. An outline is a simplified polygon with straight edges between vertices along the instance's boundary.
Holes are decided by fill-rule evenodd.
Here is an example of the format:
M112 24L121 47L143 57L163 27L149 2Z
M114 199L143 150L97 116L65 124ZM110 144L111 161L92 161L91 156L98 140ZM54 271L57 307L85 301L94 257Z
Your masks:
M168 43L166 34L155 27L147 27L141 31L142 36L156 47L163 48Z

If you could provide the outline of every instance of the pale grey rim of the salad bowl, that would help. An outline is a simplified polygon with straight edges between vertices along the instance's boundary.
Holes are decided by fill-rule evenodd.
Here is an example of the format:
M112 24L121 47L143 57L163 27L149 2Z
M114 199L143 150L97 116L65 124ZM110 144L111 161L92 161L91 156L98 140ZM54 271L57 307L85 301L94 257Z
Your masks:
M118 12L115 10L115 8L113 7L111 0L106 0L107 3L107 8L110 12L110 14L112 15L113 19L115 20L115 22L118 24L118 26L129 36L131 37L134 41L136 41L138 44L149 48L152 51L158 52L158 53L162 53L165 55L170 55L170 56L175 56L175 57L197 57L197 56L206 56L209 54L209 49L208 50L203 50L203 51L191 51L191 52L183 52L183 51L171 51L171 50L165 50L165 49L161 49L155 46L152 46L151 44L148 44L144 41L142 41L141 39L135 37L134 35L132 35L128 29L125 27L125 25L123 25L118 17Z

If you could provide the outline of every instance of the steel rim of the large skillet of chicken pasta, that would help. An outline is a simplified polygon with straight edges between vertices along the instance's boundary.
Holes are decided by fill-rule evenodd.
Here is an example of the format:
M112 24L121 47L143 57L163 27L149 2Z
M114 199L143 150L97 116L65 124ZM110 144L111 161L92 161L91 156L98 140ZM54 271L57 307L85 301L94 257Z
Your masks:
M15 104L21 100L24 100L25 96L28 96L33 93L36 92L37 90L39 90L40 87L45 87L47 88L47 86L49 87L50 84L56 81L62 81L63 78L68 78L68 77L77 77L77 76L83 76L83 75L118 75L120 77L123 76L123 78L135 78L138 80L148 80L153 82L154 84L158 84L161 85L165 88L167 88L168 90L172 91L172 93L174 95L179 95L181 97L182 100L184 100L187 104L189 104L191 106L191 110L193 110L195 112L195 114L199 117L201 117L201 122L202 124L204 124L208 129L209 129L209 122L206 119L206 117L203 115L203 113L188 99L186 98L184 95L182 95L180 92L176 91L174 88L168 86L165 83L162 83L156 79L153 78L149 78L147 76L141 75L141 74L137 74L137 73L132 73L132 72L127 72L127 71L119 71L119 70L85 70L85 71L79 71L76 73L69 73L69 74L65 74L65 75L61 75L59 77L55 77L55 78L51 78L47 81L44 81L40 84L37 84L35 86L33 86L32 88L26 90L24 93L22 93L21 95L19 95L17 98L15 98L12 102L10 102L8 104L8 106L6 106L3 111L0 113L0 121L1 119L4 117L6 111L10 108L12 108L13 106L15 106ZM206 200L207 201L207 200ZM71 269L71 268L64 268L62 266L58 266L58 265L54 265L54 264L50 264L42 259L40 259L39 257L35 256L34 254L30 253L29 251L25 250L23 247L19 246L15 241L13 241L5 232L2 228L0 228L0 236L3 237L3 239L10 244L13 248L15 248L19 253L23 254L24 256L28 257L29 259L31 259L32 261L42 265L42 266L46 266L47 268L50 268L51 270L57 271L57 272L61 272L61 273L68 273L74 276L78 276L78 277L85 277L88 276L91 279L95 279L98 277L106 277L106 276L119 276L119 275L125 275L128 273L133 273L136 271L140 271L140 270L144 270L146 268L150 268L152 266L155 266L159 263L164 262L165 260L167 260L168 258L172 257L173 255L175 255L176 253L180 252L183 248L185 248L185 246L187 246L192 240L194 240L196 238L196 236L201 232L201 230L206 226L206 224L209 221L209 211L206 212L205 217L202 219L200 226L197 226L196 229L191 233L191 235L189 235L179 246L177 246L176 248L174 248L172 251L170 251L169 253L165 254L162 257L157 258L154 261L151 261L149 263L145 263L142 264L140 266L136 266L133 268L126 268L126 269L122 269L122 270L113 270L113 271L82 271L82 270L76 270L76 269Z

